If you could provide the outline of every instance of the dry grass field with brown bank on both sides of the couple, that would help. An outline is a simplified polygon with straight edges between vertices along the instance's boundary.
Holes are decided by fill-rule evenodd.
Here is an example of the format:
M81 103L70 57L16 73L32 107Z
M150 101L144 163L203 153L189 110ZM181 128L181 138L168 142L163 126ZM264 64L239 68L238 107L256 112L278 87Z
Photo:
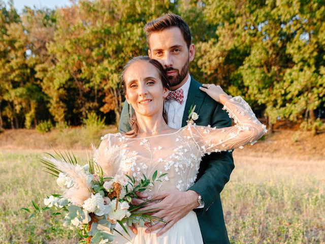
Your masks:
M42 149L37 149L37 139L26 136L18 146L14 140L5 143L4 136L0 243L76 243L75 233L61 227L59 218L41 215L28 221L20 210L30 200L42 204L58 189L38 161L48 146L39 141ZM325 243L324 139L284 131L235 150L236 168L221 195L232 243ZM85 150L77 148L77 156L85 159Z

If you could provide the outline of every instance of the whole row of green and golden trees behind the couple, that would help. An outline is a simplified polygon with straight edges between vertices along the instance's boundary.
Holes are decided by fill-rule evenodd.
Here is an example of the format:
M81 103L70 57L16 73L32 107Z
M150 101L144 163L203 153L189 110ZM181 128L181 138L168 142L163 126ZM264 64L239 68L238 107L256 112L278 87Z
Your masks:
M89 112L117 123L119 73L147 54L145 23L168 11L191 27L193 77L245 97L270 129L277 118L321 127L324 1L83 0L20 15L1 2L0 128L80 125Z

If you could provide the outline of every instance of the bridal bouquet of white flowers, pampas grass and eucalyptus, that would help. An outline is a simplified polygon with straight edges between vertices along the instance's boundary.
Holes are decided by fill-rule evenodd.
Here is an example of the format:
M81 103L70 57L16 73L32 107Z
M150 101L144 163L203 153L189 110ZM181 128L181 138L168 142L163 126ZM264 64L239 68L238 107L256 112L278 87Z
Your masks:
M143 226L145 222L164 222L149 215L155 209L139 210L153 199L133 205L132 198L137 198L137 191L149 190L166 173L157 176L155 171L151 179L143 175L143 179L136 184L133 176L107 175L93 159L88 159L87 164L80 166L76 157L69 152L65 155L59 152L47 155L41 161L47 172L57 177L57 185L63 193L47 196L43 208L32 201L35 210L29 218L38 212L50 210L52 215L64 216L64 227L77 230L83 238L80 243L101 244L111 243L114 231L123 235L115 229L116 224L121 225L127 233L124 223L128 226L133 223ZM31 212L28 208L22 209Z

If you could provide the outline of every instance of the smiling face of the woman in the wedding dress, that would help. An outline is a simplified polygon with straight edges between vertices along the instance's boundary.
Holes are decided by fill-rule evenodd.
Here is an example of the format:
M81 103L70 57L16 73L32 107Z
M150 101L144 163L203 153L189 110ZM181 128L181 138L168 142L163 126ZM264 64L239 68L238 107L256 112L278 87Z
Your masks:
M158 70L146 61L138 61L124 73L125 98L136 114L153 116L163 114L164 99L168 89L163 87Z

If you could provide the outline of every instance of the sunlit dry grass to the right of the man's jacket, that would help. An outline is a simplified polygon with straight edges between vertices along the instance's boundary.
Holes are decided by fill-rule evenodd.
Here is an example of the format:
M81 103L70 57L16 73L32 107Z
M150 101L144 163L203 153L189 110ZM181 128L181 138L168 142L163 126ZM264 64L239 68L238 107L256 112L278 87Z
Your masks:
M222 192L232 243L325 243L325 161L237 150Z

